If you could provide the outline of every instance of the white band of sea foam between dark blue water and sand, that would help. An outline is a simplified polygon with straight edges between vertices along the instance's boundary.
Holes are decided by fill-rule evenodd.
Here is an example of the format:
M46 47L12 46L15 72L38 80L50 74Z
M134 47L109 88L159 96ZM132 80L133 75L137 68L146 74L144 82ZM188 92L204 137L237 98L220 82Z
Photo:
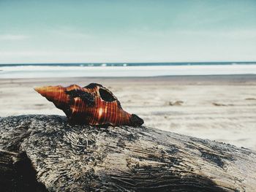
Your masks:
M1 66L0 78L155 77L167 75L256 74L256 64L186 66Z

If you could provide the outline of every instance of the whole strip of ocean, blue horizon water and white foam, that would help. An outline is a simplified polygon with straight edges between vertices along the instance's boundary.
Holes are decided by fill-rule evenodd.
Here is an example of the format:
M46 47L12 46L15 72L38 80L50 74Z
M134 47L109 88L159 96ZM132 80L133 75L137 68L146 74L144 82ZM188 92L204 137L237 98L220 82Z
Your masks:
M256 74L255 62L0 64L0 78Z

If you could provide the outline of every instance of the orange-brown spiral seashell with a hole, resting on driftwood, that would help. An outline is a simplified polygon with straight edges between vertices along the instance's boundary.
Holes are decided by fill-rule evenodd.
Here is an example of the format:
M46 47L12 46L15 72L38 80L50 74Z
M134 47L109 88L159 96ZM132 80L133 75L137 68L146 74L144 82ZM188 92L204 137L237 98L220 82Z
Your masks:
M91 83L78 85L45 86L35 91L63 110L71 123L86 125L140 126L143 119L125 112L116 96L108 88Z

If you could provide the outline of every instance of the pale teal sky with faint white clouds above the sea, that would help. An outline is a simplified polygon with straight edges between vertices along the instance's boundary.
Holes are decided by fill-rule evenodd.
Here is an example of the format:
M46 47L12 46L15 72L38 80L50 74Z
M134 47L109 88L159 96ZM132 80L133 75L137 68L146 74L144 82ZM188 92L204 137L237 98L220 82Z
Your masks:
M256 61L256 1L0 0L0 64Z

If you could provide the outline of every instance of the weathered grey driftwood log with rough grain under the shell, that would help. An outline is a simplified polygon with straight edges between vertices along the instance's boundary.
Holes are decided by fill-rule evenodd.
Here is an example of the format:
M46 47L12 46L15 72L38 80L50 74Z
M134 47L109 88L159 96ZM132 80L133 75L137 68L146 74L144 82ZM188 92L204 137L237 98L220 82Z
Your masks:
M148 127L0 118L0 191L255 191L256 153Z

